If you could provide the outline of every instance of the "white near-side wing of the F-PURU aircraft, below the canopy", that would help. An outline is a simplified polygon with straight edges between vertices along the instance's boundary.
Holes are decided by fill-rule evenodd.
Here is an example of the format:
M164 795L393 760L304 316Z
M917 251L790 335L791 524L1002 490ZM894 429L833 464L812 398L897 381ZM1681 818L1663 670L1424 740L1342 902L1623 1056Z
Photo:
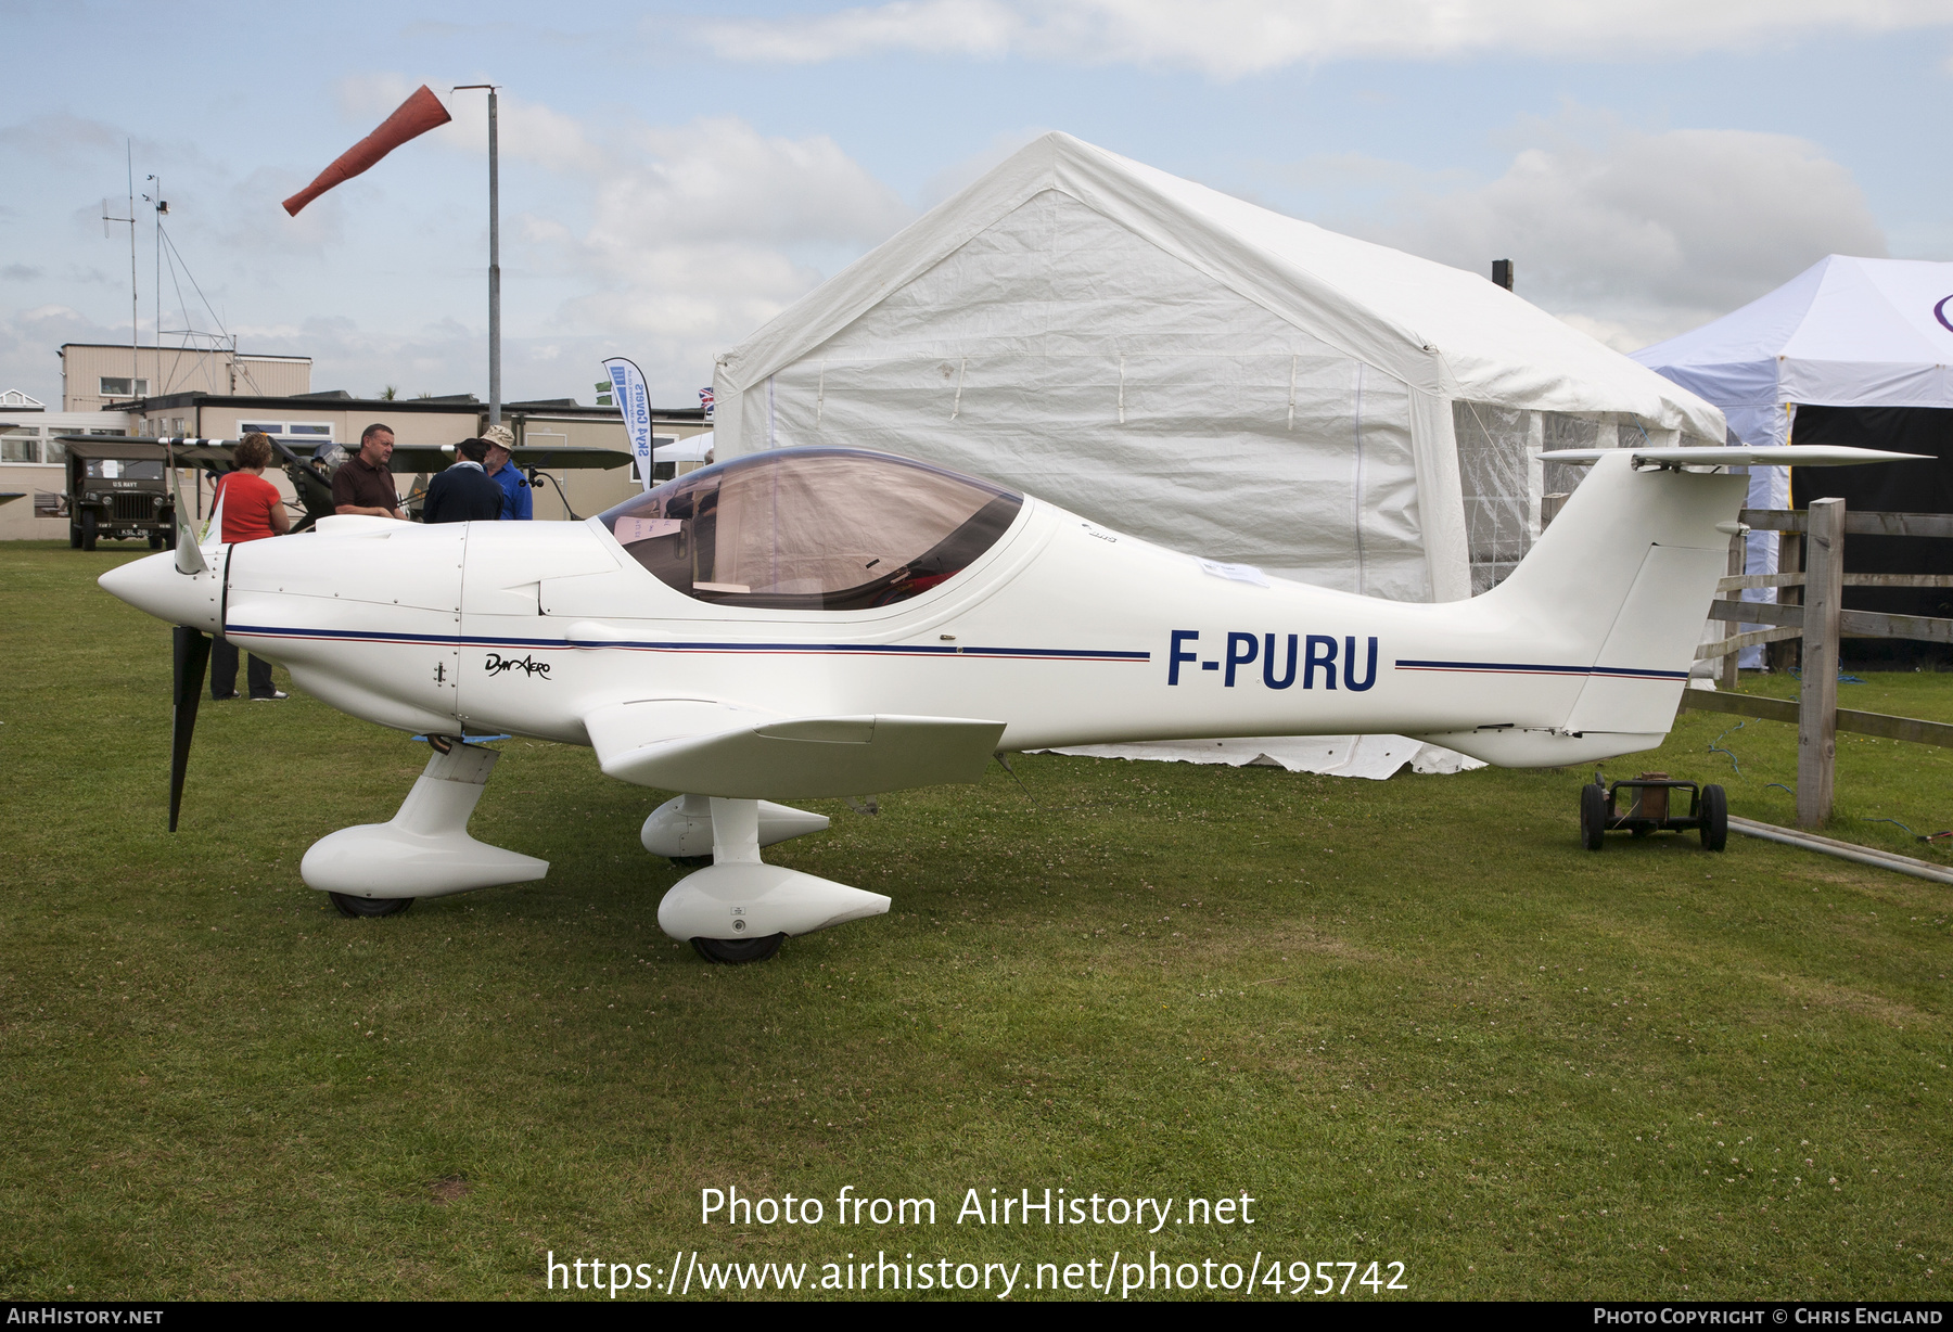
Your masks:
M603 773L728 799L818 799L976 781L1004 734L967 717L771 717L717 699L611 703L584 717Z

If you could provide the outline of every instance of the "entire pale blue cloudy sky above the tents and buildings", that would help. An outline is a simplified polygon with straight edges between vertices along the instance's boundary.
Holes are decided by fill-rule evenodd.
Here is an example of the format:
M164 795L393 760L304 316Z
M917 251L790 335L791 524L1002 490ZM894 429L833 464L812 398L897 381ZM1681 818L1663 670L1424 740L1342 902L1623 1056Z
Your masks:
M504 393L660 404L1047 129L1484 271L1629 350L1830 252L1953 260L1953 0L23 4L0 90L0 389L162 328L316 389L486 395L502 96ZM418 84L455 115L297 219ZM152 182L150 176L158 178ZM137 236L141 336L156 236ZM193 283L191 283L193 279ZM199 297L201 289L201 297Z

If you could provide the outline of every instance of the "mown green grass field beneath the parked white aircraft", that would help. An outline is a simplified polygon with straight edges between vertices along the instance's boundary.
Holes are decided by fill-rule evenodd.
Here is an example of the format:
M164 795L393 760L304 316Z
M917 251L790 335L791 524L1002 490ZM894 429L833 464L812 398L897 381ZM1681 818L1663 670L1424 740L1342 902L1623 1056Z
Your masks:
M342 920L299 857L426 750L205 703L166 834L168 629L92 582L133 555L0 547L0 1297L543 1297L551 1252L818 1285L889 1252L1078 1299L1035 1266L1115 1250L1275 1260L1283 1299L1299 1262L1357 1264L1338 1299L1371 1262L1387 1297L1947 1295L1949 887L1734 836L1588 853L1584 771L1025 756L814 803L834 828L769 859L894 908L709 967L656 928L664 797L514 740L473 830L549 879ZM1840 697L1953 721L1953 676ZM1734 723L1609 771L1785 822L1791 728ZM1840 736L1832 834L1953 859L1863 822L1953 826L1949 762ZM732 1186L826 1219L701 1225ZM937 1223L840 1227L844 1186ZM1256 1225L957 1225L992 1187L1246 1193Z

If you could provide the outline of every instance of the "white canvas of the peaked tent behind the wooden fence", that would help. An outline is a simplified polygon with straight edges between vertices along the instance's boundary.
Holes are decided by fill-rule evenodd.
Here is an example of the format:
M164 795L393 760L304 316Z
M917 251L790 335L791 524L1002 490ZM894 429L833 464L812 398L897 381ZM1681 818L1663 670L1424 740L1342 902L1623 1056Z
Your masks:
M1953 512L1953 264L1832 254L1740 311L1635 359L1723 408L1754 445L1855 443L1932 453L1935 463L1861 469L1758 469L1752 508L1840 494L1851 506ZM1793 496L1793 480L1797 494ZM1851 572L1953 572L1943 541L1853 537ZM1777 568L1773 533L1750 537L1750 572ZM1744 594L1775 600L1769 588ZM1853 588L1855 609L1945 615L1943 596ZM1744 666L1760 652L1744 654Z

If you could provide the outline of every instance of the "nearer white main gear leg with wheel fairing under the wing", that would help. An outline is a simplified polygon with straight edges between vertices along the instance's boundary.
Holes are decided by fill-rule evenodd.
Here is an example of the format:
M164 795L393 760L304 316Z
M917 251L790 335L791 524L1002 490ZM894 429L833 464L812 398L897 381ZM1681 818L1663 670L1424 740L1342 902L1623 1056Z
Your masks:
M756 963L789 934L889 910L889 898L760 859L762 801L711 797L713 863L658 902L658 928L711 963ZM797 812L797 811L795 811ZM646 832L648 846L648 832Z

